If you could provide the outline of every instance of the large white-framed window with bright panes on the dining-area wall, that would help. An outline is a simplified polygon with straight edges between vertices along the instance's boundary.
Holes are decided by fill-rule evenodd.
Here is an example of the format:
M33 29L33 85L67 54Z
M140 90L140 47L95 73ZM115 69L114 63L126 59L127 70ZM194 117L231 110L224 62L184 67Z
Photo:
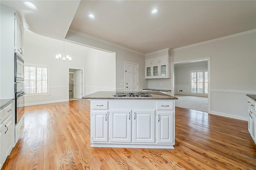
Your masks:
M48 67L42 65L25 65L25 91L28 95L45 95L49 92Z

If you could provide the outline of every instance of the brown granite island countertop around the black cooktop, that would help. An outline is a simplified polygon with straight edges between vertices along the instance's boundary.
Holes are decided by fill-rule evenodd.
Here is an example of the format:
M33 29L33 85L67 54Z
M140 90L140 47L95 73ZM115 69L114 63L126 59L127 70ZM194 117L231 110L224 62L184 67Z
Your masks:
M137 91L139 92L139 91ZM158 91L148 91L146 93L152 95L153 97L113 97L115 93L122 93L120 91L98 91L90 95L83 96L82 99L146 99L146 100L177 100L177 97L166 95ZM131 92L136 93L136 92ZM145 92L144 92L145 93Z

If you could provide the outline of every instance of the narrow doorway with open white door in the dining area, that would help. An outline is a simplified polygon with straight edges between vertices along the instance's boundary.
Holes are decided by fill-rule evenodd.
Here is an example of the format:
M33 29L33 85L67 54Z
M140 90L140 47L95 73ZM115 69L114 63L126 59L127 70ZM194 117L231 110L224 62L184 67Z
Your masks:
M69 101L82 99L83 94L83 71L82 69L69 69Z

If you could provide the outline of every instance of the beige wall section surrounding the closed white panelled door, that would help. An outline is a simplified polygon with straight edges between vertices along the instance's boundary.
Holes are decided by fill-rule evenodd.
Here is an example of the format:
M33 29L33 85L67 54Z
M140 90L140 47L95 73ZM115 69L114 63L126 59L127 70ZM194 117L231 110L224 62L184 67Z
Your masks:
M124 61L130 61L139 64L139 90L148 87L148 81L145 79L145 57L136 51L131 51L124 49L108 42L102 40L96 40L95 38L89 38L86 35L80 34L75 31L69 31L66 40L71 40L74 42L82 43L94 48L100 48L108 51L113 51L116 53L116 90L124 90Z

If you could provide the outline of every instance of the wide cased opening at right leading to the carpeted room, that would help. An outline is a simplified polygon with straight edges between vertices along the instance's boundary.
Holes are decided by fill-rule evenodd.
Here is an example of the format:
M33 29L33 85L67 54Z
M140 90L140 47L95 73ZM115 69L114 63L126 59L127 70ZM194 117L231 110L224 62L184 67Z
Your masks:
M210 57L172 63L172 95L180 99L176 102L177 107L210 112L210 71ZM197 73L196 79L192 76L194 72ZM202 79L199 79L201 72Z

